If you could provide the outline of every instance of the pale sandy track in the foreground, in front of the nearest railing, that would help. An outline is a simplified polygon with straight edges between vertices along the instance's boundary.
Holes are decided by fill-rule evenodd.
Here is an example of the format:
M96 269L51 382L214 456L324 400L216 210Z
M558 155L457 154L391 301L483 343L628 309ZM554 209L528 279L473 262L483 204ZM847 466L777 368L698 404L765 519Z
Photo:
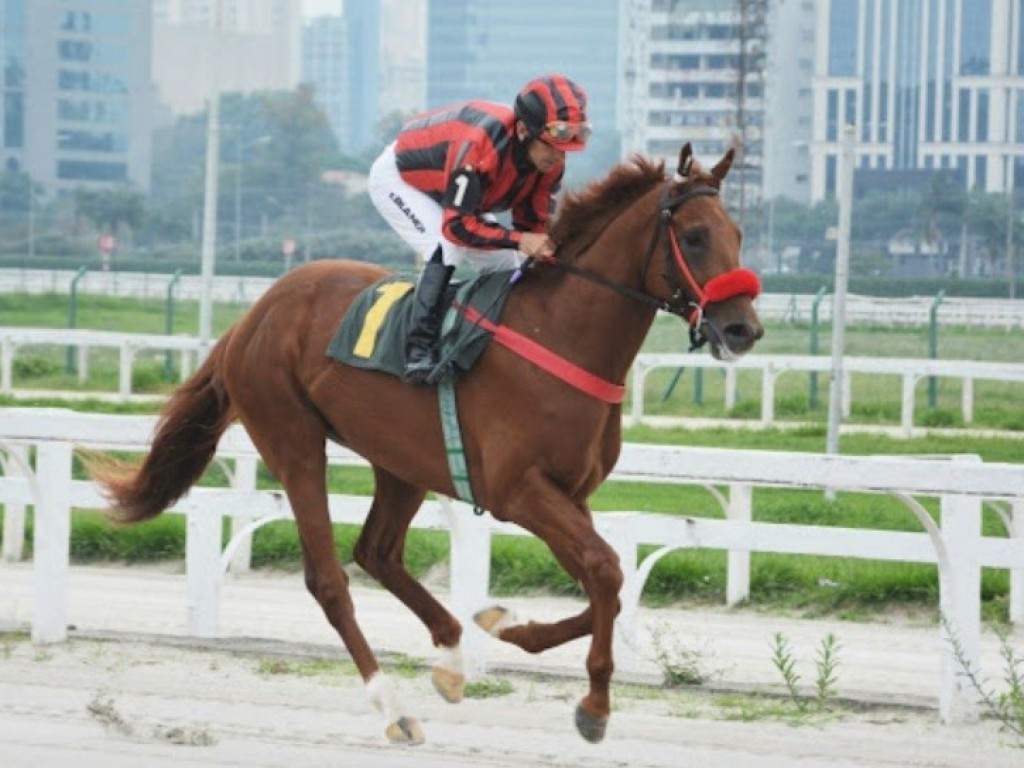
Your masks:
M511 694L451 706L425 674L399 685L428 741L395 749L384 742L354 675L302 675L301 666L269 658L125 641L39 648L8 639L0 660L0 765L1009 768L1022 760L1020 750L999 745L1005 739L991 724L942 727L934 715L909 711L799 727L724 722L684 717L708 697L671 693L620 695L608 737L594 746L572 730L581 681L514 677Z

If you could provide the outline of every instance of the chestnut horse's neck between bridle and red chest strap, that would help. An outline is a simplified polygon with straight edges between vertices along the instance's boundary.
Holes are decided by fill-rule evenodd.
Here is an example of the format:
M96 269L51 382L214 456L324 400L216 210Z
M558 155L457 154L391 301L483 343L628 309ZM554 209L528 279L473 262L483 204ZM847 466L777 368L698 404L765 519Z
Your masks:
M642 261L656 226L656 196L647 206L638 202L624 211L580 254L577 265L643 292ZM563 347L556 351L615 382L626 380L655 314L650 305L573 274L558 280L542 304Z

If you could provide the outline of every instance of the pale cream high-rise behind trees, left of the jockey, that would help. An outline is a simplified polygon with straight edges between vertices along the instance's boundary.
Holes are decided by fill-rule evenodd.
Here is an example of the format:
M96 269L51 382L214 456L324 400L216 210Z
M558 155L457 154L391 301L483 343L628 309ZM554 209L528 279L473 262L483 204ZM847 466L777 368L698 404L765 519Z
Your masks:
M300 0L153 2L153 78L172 113L204 110L214 83L245 93L299 84Z

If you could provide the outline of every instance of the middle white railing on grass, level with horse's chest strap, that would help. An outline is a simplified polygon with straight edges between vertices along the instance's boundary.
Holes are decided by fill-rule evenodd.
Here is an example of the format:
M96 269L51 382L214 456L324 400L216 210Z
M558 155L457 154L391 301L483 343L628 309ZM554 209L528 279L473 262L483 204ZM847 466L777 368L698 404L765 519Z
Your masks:
M110 347L120 352L117 399L127 401L136 397L132 393L132 365L142 350L169 350L180 356L180 378L184 380L191 371L201 351L200 340L189 336L160 336L157 334L125 334L113 331L58 330L40 328L0 327L0 394L15 394L13 386L14 358L19 351L31 346L59 345L77 349L78 378L88 378L89 351L96 347ZM631 377L630 421L642 424L647 377L658 369L721 369L725 376L724 404L726 410L735 407L738 394L738 372L761 372L761 424L775 423L775 382L784 373L830 372L827 356L749 354L733 362L722 362L706 354L643 353L637 356ZM913 413L918 383L928 377L946 377L962 382L961 410L965 424L974 421L974 382L1009 381L1024 384L1024 364L983 362L979 360L907 359L901 357L844 357L847 378L843 387L843 415L849 417L853 388L852 374L898 376L902 380L900 428L909 437L913 432ZM33 390L33 395L41 392ZM68 396L67 392L52 392ZM81 395L81 392L74 393ZM89 394L95 394L89 392ZM1024 396L1024 391L1022 391Z

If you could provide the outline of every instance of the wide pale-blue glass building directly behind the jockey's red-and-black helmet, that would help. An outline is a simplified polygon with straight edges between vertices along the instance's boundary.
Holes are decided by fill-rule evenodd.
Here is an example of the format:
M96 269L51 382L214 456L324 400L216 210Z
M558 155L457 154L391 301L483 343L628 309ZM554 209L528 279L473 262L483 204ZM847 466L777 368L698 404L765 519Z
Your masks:
M587 89L594 141L614 138L618 0L445 0L427 11L427 106L470 98L512 104L558 72Z

